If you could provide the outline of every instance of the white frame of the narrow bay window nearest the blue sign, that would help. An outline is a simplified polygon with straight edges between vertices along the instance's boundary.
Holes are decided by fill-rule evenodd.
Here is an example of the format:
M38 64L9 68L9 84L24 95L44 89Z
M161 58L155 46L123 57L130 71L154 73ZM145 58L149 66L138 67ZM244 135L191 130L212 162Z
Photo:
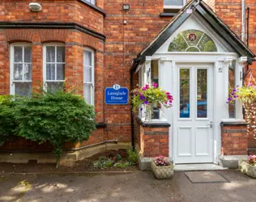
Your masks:
M90 65L86 65L86 66L92 68L92 71L91 71L92 82L84 82L84 80L83 80L83 90L84 90L84 84L91 85L91 105L94 106L94 91L95 91L95 87L94 87L95 86L95 82L94 82L94 71L95 71L94 57L95 57L95 53L94 53L94 50L92 48L87 48L87 47L83 48L83 52L84 51L88 51L88 52L92 53L92 65L91 66ZM83 60L84 60L84 57L83 57ZM85 65L84 65L84 62L83 62L83 74L84 74L84 66Z

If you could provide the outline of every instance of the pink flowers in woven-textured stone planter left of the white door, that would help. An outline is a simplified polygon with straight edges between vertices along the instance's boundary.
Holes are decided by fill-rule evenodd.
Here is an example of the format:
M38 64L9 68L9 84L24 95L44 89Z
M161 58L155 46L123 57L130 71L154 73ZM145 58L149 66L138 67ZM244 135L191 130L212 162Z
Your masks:
M174 175L174 166L161 155L151 161L151 170L156 179L170 179Z

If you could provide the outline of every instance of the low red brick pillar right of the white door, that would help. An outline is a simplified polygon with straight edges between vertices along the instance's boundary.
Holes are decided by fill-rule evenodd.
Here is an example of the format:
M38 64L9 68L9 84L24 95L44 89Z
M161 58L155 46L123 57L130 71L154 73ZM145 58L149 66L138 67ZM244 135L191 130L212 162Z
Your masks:
M246 123L221 123L222 155L247 155Z

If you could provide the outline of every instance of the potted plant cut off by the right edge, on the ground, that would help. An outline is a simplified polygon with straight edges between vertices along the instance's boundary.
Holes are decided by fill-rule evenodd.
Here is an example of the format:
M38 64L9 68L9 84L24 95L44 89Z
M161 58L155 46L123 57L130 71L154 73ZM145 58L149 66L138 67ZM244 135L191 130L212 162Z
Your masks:
M248 161L241 160L238 164L239 169L245 173L245 175L256 178L256 155L250 155Z

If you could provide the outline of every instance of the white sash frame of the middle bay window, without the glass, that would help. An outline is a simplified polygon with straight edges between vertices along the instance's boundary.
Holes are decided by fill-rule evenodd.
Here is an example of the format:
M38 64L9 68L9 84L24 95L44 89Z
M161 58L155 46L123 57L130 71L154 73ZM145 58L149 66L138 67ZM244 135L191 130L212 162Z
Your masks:
M55 62L49 62L54 64L64 64L64 80L47 80L46 79L46 47L54 46L55 47ZM44 82L44 90L47 90L47 82L65 82L65 72L66 72L66 57L64 58L64 62L57 62L57 47L65 47L64 43L47 43L43 45L43 82ZM65 50L66 52L66 50ZM66 56L66 53L65 53ZM55 68L55 78L57 78L57 68Z

